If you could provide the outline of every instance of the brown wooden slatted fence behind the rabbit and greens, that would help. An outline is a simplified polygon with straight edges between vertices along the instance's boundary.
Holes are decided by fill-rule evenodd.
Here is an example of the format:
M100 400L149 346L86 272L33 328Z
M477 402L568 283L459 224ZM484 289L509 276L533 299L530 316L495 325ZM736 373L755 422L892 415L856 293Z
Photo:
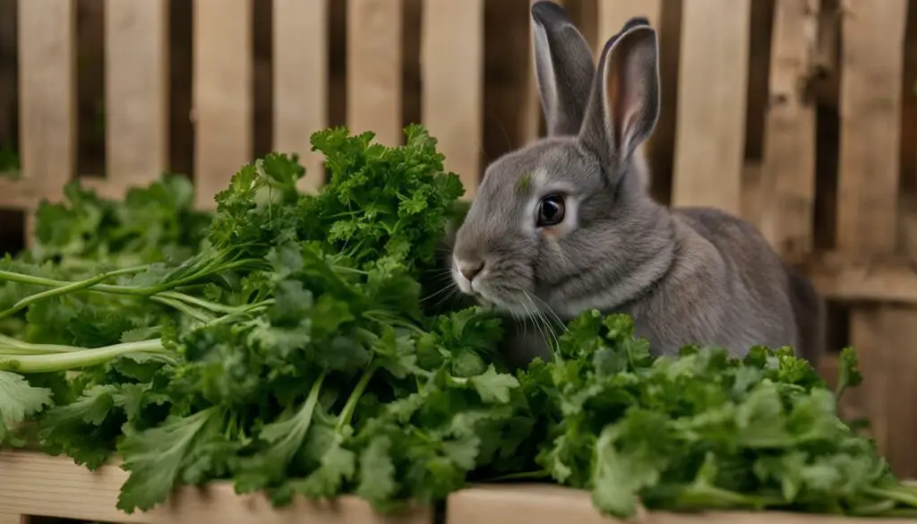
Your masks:
M270 149L302 153L310 171L320 166L308 153L309 135L329 125L328 100L336 94L329 83L331 1L270 3ZM512 6L506 16L517 27L527 25L527 0L347 0L346 7L335 6L347 15L348 125L400 142L403 72L416 66L420 120L470 196L486 162L484 18L495 2ZM917 94L911 87L917 1L566 3L586 22L584 34L596 49L631 15L648 16L659 28L663 116L647 148L652 164L662 166L654 192L676 206L717 206L747 217L812 275L837 312L827 351L852 343L867 375L845 410L871 418L873 435L898 472L917 474L917 382L911 380L917 373L911 262L917 253ZM210 206L254 154L253 0L191 4L192 171L199 205ZM117 196L170 169L175 93L168 64L175 57L169 56L169 2L102 5L105 174L84 180ZM57 198L75 177L75 6L75 0L18 2L22 169L17 179L0 179L0 207L28 212L42 198ZM417 29L405 22L406 9L420 14L419 51L407 58L406 36ZM509 58L526 67L531 61ZM540 125L531 72L527 77L515 95L525 101L514 129L520 141L535 139ZM760 151L750 154L756 147ZM308 180L315 184L315 177ZM826 362L830 368L834 361Z

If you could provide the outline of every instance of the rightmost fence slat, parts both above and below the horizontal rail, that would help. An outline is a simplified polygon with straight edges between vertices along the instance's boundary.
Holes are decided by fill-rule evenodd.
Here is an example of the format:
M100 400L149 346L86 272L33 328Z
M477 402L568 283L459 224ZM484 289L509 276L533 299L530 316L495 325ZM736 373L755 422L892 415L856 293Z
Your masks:
M896 248L900 110L907 0L844 2L837 249L850 260ZM917 312L878 306L851 314L851 341L865 381L867 416L879 452L900 475L917 474L913 452L911 340Z

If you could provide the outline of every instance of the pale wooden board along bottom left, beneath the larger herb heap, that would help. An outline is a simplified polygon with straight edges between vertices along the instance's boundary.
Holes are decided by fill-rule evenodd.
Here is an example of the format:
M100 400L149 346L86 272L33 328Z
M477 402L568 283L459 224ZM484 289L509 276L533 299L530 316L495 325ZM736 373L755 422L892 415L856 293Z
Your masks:
M169 502L149 513L127 515L116 509L118 490L127 473L110 465L90 472L67 457L39 453L0 452L0 524L18 518L58 517L143 524L430 524L432 510L384 517L356 497L336 503L297 500L273 509L264 496L239 496L232 485L181 489Z

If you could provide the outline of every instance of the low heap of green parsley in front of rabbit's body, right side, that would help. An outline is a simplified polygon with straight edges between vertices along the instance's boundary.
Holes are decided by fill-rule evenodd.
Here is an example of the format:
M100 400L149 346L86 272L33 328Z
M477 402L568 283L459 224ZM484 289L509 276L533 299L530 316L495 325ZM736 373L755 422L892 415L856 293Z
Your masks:
M917 514L870 440L837 417L837 397L861 380L842 353L830 391L790 348L686 347L654 358L623 315L584 313L553 362L522 378L547 420L537 462L553 479L590 489L620 518L653 509L783 509Z

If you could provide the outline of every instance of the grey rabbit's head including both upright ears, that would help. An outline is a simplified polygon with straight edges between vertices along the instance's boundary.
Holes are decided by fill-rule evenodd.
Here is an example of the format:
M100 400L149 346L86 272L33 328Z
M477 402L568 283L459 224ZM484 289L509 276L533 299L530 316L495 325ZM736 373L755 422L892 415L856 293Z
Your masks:
M453 247L459 289L516 317L614 307L664 272L668 219L639 146L656 126L656 31L629 20L598 64L564 9L531 9L548 136L492 162Z

